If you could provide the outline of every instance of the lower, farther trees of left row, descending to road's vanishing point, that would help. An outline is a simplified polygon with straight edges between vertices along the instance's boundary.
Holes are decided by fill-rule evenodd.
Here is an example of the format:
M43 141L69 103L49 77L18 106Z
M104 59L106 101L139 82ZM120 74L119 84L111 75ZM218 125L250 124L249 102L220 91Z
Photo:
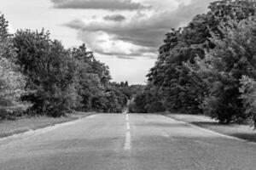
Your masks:
M84 44L73 48L71 54L76 63L74 87L79 96L75 110L122 112L127 103L128 82L110 82L108 66L97 61Z

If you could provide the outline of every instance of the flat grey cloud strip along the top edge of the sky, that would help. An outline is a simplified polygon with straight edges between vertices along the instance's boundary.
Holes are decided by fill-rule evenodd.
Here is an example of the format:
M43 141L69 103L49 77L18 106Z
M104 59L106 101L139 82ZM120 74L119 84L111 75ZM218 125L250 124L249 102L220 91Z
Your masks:
M51 0L55 8L87 8L108 10L136 10L150 8L131 0Z

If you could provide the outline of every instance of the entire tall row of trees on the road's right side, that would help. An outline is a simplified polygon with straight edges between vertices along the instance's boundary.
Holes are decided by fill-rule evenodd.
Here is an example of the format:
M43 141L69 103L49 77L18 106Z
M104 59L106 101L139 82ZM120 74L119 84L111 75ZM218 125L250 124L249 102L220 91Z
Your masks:
M255 1L216 1L168 32L131 112L182 111L255 125L255 14Z

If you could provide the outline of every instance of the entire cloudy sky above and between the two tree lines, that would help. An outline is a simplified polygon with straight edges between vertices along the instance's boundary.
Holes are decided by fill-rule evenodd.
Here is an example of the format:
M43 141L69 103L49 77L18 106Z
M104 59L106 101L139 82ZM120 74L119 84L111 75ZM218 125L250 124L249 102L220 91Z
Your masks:
M212 0L0 0L9 30L45 28L65 47L85 42L113 81L145 83L166 32Z

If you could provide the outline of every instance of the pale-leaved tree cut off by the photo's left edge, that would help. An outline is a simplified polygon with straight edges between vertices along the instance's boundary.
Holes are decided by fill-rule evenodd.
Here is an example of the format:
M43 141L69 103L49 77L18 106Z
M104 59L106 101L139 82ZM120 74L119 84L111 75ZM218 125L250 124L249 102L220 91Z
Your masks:
M11 62L15 48L7 31L8 22L0 16L0 119L15 118L22 114L20 96L25 93L25 77Z

